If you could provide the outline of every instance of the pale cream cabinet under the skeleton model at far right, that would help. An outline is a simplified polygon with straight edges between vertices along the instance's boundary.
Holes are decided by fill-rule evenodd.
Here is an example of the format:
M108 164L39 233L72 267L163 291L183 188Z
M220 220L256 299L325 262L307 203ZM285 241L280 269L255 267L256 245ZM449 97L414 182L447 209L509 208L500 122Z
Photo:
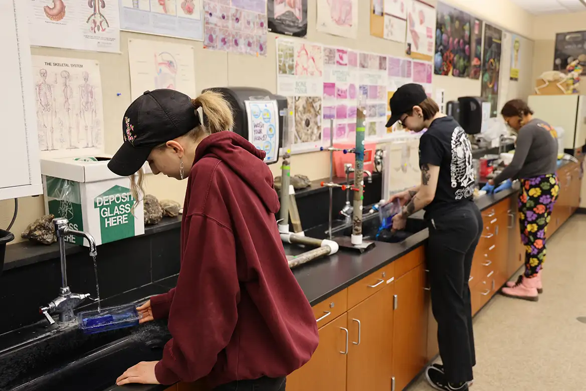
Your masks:
M532 95L527 103L534 117L564 129L564 149L586 144L586 96Z

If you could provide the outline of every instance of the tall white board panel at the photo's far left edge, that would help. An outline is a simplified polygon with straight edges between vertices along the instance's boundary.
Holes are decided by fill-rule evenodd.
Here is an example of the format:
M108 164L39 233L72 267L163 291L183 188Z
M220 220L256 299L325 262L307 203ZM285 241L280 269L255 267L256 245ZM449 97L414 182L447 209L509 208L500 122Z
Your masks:
M0 2L0 36L1 200L43 192L25 2Z

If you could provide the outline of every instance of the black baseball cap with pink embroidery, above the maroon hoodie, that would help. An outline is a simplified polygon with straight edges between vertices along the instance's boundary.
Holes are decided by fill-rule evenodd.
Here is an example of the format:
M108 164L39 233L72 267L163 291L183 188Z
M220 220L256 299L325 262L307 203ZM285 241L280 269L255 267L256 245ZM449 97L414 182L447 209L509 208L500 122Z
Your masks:
M200 124L199 114L187 95L168 89L145 91L124 113L124 144L110 159L108 168L120 176L135 174L153 148Z

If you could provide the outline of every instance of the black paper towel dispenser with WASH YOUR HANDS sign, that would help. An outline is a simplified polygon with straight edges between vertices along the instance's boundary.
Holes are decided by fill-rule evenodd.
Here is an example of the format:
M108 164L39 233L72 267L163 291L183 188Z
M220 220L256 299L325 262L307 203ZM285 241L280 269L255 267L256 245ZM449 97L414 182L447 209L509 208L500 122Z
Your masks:
M202 92L208 90L222 93L230 103L234 111L234 132L267 152L265 163L276 163L282 147L287 98L256 87L213 87Z

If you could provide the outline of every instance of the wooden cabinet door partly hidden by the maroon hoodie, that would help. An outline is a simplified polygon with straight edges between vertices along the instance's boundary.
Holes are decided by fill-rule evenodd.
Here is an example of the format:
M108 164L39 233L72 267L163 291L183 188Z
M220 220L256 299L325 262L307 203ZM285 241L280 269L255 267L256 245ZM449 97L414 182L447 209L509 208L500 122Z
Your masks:
M318 349L308 363L287 376L287 391L345 391L349 344L345 313L319 329Z

